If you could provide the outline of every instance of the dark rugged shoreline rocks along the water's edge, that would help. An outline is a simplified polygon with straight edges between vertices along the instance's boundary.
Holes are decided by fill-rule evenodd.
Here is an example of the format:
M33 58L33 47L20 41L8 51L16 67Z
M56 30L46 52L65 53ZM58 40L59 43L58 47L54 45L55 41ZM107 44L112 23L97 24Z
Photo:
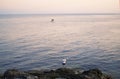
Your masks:
M58 68L56 70L30 70L20 71L8 69L0 79L112 79L99 69L80 71L71 68Z

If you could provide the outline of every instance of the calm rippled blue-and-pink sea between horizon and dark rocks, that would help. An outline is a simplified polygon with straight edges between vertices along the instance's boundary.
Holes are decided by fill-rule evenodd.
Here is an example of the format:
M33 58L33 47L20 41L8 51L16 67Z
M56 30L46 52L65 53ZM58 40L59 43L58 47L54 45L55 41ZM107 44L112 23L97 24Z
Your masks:
M0 15L1 72L55 69L63 58L120 79L120 15Z

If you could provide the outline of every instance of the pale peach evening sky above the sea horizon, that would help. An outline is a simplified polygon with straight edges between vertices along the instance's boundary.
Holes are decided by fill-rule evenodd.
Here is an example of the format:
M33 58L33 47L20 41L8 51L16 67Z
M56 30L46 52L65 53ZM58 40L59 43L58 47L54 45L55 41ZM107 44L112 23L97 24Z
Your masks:
M119 0L0 0L4 13L120 13Z

